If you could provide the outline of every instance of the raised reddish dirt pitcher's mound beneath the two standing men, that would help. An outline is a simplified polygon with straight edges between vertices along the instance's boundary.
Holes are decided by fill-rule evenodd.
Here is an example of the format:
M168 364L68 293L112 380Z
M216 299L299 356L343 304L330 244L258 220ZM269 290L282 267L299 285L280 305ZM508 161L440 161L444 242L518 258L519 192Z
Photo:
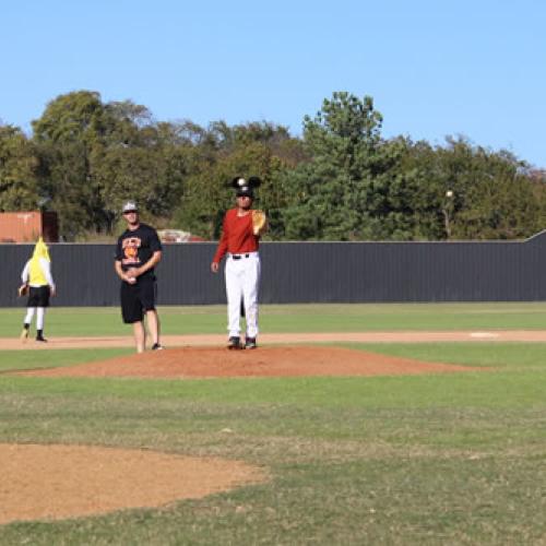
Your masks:
M68 368L36 370L33 376L213 378L288 376L393 376L468 371L467 366L424 363L329 346L182 347L134 354Z

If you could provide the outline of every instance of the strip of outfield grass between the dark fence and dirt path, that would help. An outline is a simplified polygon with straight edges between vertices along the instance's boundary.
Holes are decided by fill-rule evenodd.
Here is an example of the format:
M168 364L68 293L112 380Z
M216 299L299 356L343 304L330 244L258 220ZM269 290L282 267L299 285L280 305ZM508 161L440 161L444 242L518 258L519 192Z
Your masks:
M161 307L165 334L224 333L225 306ZM0 337L19 335L22 308L0 309ZM264 332L370 332L400 330L543 330L546 304L354 304L262 306ZM128 335L117 308L55 308L51 335Z

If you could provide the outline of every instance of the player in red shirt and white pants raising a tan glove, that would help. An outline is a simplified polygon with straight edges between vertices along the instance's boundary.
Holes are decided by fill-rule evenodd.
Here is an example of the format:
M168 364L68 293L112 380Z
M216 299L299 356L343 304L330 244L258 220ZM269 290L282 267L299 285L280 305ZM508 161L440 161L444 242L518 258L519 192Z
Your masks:
M219 262L227 254L225 282L227 295L227 330L229 340L227 347L257 348L258 335L258 289L260 283L260 256L258 253L260 236L265 229L265 215L252 210L253 189L260 186L257 177L248 180L234 178L232 186L236 189L236 206L226 212L223 222L222 237L211 263L211 271L217 273ZM242 308L241 308L242 301ZM240 342L239 319L246 316L245 345Z

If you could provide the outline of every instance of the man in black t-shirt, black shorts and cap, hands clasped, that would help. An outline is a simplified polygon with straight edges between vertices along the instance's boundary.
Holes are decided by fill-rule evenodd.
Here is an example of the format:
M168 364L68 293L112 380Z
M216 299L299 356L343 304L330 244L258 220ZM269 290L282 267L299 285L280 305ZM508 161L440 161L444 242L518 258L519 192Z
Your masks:
M152 226L141 224L133 201L128 201L122 212L127 229L118 238L115 261L116 273L121 280L121 314L126 324L133 325L138 353L143 353L146 346L144 314L152 335L152 351L161 351L154 268L162 259L162 244Z

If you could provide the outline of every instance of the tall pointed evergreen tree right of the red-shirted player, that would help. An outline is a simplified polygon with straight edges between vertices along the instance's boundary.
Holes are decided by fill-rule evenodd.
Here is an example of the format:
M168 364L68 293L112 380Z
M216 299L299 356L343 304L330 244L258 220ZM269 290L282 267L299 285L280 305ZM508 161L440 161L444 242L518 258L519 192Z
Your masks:
M314 118L305 118L311 159L285 175L287 238L355 240L404 232L392 192L406 183L396 170L405 151L381 140L381 123L371 97L345 92L325 99Z

